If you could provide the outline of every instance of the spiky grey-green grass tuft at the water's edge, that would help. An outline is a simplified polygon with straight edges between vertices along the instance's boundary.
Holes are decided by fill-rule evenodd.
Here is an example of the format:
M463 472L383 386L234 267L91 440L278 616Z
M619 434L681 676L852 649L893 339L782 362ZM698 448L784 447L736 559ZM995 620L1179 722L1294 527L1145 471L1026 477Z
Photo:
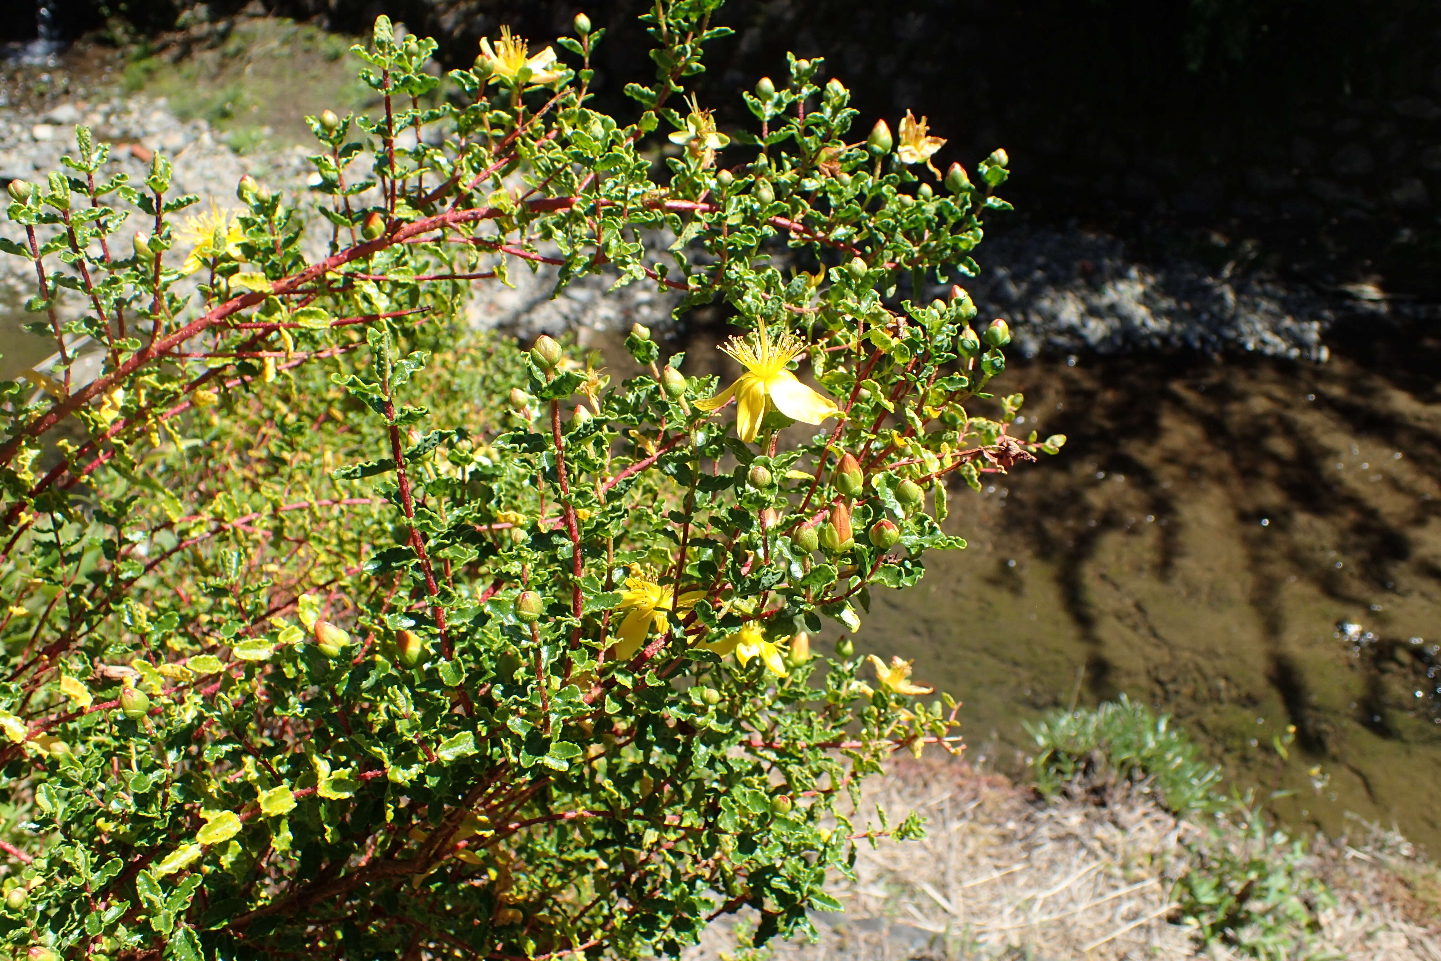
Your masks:
M1078 781L1120 779L1153 791L1176 814L1225 804L1215 794L1221 769L1200 758L1169 715L1157 718L1125 694L1095 710L1058 712L1026 730L1039 748L1032 771L1045 795Z

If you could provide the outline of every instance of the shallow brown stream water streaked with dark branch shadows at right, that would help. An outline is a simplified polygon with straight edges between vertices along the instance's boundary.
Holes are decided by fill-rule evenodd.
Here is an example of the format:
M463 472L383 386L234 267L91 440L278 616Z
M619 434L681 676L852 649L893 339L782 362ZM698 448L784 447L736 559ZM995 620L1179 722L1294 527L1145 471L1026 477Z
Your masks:
M1124 692L1259 798L1294 792L1285 818L1353 811L1441 852L1441 357L1340 346L1013 367L1017 432L1069 442L954 491L968 549L878 594L857 647L916 658L1001 768L1022 722Z

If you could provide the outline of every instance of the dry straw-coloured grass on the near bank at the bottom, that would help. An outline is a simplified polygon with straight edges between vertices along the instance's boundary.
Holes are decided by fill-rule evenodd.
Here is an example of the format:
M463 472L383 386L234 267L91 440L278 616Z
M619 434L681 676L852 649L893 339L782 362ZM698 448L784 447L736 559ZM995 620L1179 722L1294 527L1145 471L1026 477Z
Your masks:
M818 942L772 945L772 961L1238 957L1199 951L1192 929L1172 924L1187 843L1206 831L1146 795L1036 804L967 765L908 764L867 792L866 807L878 803L893 820L918 810L927 839L863 847L857 879L834 886L846 911L814 913ZM1441 875L1399 836L1359 827L1355 843L1311 846L1306 867L1337 903L1306 957L1441 961ZM735 955L749 928L744 915L715 925L690 961Z

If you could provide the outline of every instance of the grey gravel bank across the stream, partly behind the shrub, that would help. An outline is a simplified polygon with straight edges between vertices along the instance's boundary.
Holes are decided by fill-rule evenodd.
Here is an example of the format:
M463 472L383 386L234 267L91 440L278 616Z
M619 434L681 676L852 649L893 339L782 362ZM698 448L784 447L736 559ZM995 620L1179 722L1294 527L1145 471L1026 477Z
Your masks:
M200 195L202 203L233 206L242 173L291 189L303 189L308 174L304 147L239 156L203 120L180 121L164 101L114 97L65 102L43 115L0 111L0 180L43 179L58 169L78 122L112 144L110 167L133 180L144 176L151 151L164 150L176 161L176 189ZM1082 231L1013 229L989 239L977 259L981 275L968 284L973 297L983 316L1012 321L1027 354L1183 347L1324 360L1326 328L1342 313L1365 308L1264 275L1208 271L1190 261L1141 264L1117 238ZM605 297L605 278L586 278L552 301L553 271L532 274L517 265L510 274L513 288L477 290L477 323L525 331L618 330L637 320L663 323L674 303L644 284ZM0 262L0 297L16 303L30 282L24 261Z

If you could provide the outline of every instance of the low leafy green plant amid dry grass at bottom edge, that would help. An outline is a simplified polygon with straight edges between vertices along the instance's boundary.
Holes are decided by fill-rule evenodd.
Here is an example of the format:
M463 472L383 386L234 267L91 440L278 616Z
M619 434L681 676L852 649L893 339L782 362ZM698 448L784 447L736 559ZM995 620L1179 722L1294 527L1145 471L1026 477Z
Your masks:
M1265 817L1236 803L1241 824L1221 821L1190 841L1192 869L1176 883L1180 921L1202 944L1223 944L1241 957L1293 961L1326 957L1316 947L1319 912L1334 898L1306 867L1306 841L1267 827Z

